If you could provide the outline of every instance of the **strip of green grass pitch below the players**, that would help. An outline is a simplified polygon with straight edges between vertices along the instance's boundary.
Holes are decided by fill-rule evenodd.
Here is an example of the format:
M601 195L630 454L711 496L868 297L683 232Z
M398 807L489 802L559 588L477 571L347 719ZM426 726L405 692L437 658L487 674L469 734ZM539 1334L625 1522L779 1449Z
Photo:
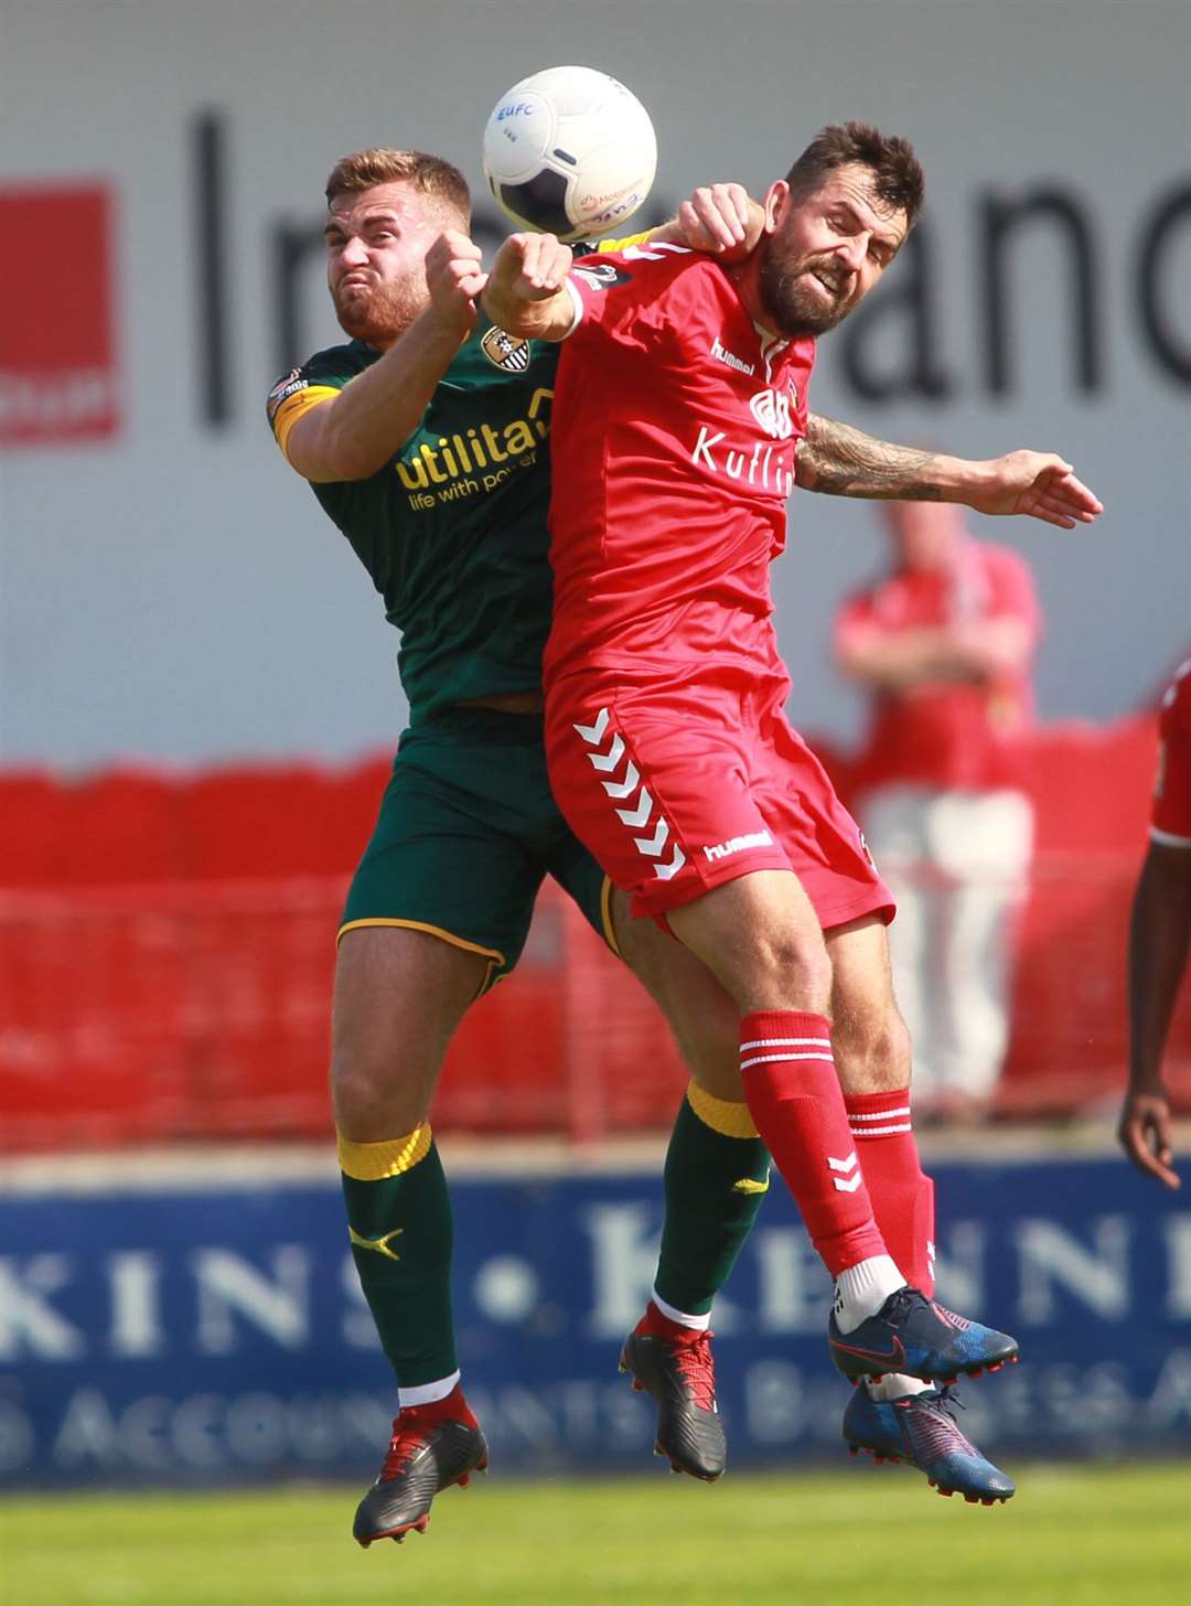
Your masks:
M851 1474L849 1474L851 1473ZM1026 1468L1016 1500L941 1500L904 1468L690 1479L475 1479L424 1535L363 1551L358 1490L10 1497L3 1606L1132 1606L1183 1598L1191 1463Z

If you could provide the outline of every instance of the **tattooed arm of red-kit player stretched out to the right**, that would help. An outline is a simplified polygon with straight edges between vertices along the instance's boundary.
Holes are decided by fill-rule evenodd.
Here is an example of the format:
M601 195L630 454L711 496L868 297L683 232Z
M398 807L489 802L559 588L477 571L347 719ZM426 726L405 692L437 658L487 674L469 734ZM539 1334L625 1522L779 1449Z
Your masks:
M897 446L812 413L798 448L798 483L828 496L963 503L976 512L1022 514L1074 530L1103 504L1069 463L1045 451L973 461Z

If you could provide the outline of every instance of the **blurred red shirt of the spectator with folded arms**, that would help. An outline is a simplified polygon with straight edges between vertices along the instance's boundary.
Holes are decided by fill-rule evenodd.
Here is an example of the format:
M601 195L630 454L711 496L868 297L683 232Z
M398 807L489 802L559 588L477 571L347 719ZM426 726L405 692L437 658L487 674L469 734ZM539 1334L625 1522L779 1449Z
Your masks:
M949 570L905 570L854 596L836 618L836 641L856 628L897 634L1005 617L1037 639L1042 615L1029 565L1010 548L968 541ZM876 692L857 785L1021 787L1032 718L1026 671Z

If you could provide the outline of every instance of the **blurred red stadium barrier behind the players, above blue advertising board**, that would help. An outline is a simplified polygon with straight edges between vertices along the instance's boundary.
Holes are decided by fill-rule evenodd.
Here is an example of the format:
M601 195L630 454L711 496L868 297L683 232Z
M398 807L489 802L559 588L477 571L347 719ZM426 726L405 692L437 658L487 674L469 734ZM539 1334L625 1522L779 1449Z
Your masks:
M1149 721L1039 744L1005 1111L1119 1095L1152 752ZM334 930L387 772L0 776L0 1148L327 1139ZM1191 1107L1188 1013L1170 1068ZM665 1127L684 1079L652 1002L547 887L515 976L451 1049L437 1124Z

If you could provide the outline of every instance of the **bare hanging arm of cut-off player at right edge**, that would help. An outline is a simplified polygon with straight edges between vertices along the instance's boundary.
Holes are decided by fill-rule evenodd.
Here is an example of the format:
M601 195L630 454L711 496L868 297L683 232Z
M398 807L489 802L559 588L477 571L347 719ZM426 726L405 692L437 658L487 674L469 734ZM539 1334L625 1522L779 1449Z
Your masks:
M1128 1092L1117 1137L1146 1176L1177 1188L1162 1050L1191 952L1191 850L1151 842L1128 930Z

